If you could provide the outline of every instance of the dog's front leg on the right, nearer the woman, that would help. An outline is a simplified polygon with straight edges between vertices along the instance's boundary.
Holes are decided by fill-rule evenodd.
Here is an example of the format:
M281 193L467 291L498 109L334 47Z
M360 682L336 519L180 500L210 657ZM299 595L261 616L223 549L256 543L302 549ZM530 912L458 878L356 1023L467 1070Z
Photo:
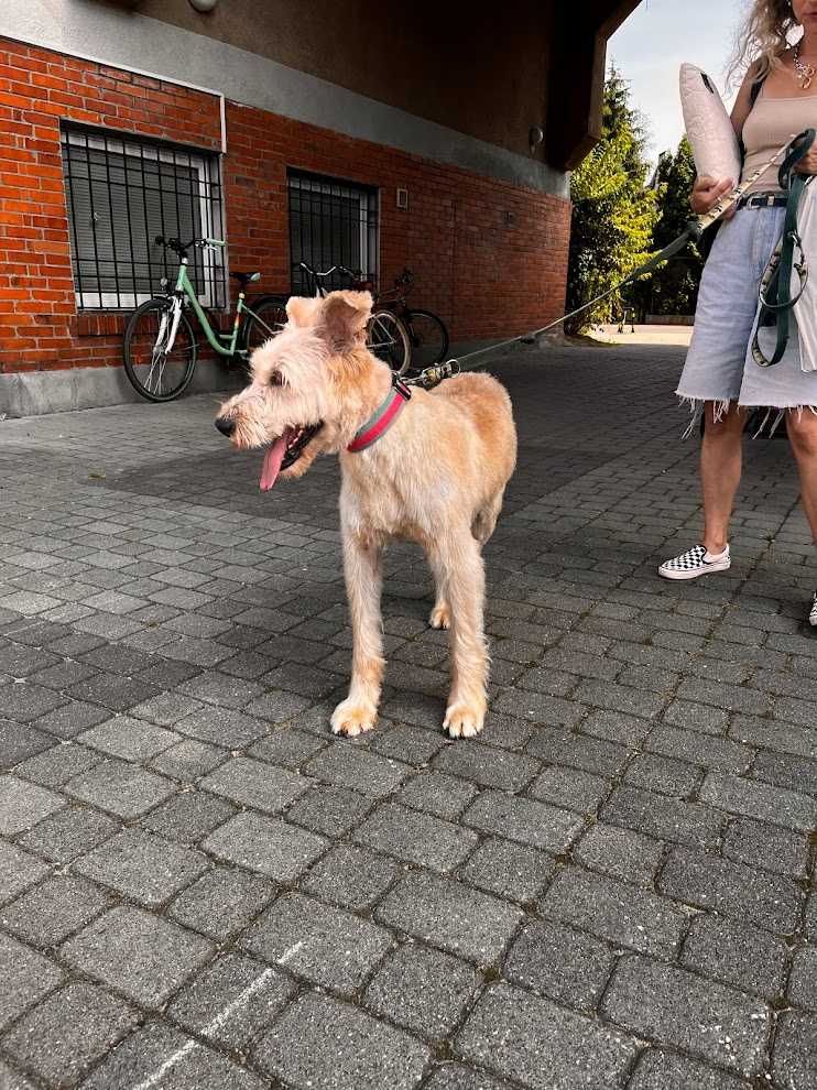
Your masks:
M482 730L488 708L488 648L482 625L484 567L470 530L443 544L437 564L445 568L451 614L451 693L443 726L451 738L472 738Z

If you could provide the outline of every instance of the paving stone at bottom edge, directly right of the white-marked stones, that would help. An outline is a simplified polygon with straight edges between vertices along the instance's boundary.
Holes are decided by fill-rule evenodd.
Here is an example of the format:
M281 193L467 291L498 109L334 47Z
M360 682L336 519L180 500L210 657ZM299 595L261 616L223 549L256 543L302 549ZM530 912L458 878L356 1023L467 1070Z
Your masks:
M255 1048L273 1078L298 1090L413 1090L428 1049L328 995L303 995Z

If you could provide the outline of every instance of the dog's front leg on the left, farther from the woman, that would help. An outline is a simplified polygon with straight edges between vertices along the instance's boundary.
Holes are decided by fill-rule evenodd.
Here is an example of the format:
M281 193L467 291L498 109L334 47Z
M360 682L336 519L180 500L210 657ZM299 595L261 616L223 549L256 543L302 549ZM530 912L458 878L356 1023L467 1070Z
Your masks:
M352 626L352 663L349 696L331 717L336 734L355 735L371 730L378 718L383 678L383 640L380 618L381 548L344 530L344 575Z

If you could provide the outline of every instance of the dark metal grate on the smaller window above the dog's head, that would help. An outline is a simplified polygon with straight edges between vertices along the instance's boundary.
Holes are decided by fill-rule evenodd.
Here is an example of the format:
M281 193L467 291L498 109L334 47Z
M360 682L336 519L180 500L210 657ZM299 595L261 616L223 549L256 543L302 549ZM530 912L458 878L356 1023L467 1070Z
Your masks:
M378 190L303 171L287 172L287 188L293 294L311 294L301 261L318 272L346 265L377 282ZM349 287L349 281L336 274L324 286Z

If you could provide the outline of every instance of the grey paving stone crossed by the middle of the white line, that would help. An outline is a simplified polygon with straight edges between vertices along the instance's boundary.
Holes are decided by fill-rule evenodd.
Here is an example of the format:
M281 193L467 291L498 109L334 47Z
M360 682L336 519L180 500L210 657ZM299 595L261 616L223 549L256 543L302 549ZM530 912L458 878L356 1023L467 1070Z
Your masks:
M225 953L178 992L167 1014L216 1045L244 1051L295 992L295 984L276 970L238 953Z

